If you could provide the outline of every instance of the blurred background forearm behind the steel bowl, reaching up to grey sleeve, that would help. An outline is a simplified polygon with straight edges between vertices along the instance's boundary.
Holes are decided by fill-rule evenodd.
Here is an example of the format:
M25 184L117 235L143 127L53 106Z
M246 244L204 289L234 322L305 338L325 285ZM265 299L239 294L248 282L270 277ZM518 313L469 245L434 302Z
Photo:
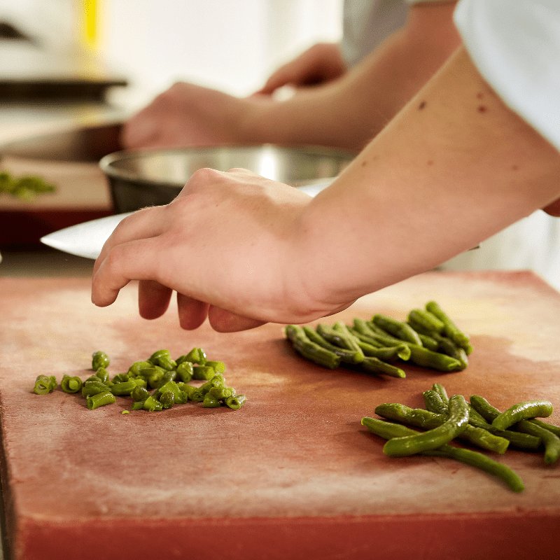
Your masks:
M454 2L411 8L405 27L342 78L284 102L261 100L247 112L244 135L276 144L363 148L458 46L453 8Z

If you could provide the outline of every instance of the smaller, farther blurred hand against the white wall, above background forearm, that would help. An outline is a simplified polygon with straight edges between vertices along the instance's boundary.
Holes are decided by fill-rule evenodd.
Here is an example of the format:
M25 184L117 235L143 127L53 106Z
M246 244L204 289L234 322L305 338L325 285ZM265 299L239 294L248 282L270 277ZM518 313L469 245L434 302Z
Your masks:
M283 85L301 87L335 80L344 74L346 64L337 43L317 43L287 64L280 66L257 92L272 94Z

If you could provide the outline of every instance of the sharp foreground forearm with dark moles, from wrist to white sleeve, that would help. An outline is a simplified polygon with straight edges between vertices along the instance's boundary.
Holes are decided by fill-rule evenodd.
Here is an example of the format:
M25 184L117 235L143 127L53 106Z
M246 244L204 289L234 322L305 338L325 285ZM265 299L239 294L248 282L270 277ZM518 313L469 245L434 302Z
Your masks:
M431 269L552 202L559 176L461 49L307 207L304 292L349 301Z

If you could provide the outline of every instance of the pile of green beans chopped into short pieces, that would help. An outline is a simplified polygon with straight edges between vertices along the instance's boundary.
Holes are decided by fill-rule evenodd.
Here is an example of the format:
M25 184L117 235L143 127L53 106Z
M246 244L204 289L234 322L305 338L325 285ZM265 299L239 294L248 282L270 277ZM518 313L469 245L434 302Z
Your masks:
M223 406L238 410L246 401L245 395L238 395L235 388L225 383L225 363L208 360L202 348L193 348L175 360L169 350L158 350L113 377L107 370L109 363L105 352L94 352L91 363L94 374L84 381L78 376L65 374L60 388L64 393L80 393L90 410L111 405L117 402L117 397L130 398L132 410L149 412L159 412L186 402L200 402L205 408ZM190 384L191 381L200 383L197 386ZM34 393L46 395L55 388L55 376L37 376Z

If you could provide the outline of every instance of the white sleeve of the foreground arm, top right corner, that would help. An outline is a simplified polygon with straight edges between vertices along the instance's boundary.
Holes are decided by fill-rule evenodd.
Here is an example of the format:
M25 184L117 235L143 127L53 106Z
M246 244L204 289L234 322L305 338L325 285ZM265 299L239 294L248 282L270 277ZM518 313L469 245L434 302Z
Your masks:
M560 0L461 0L454 20L482 77L560 150Z

